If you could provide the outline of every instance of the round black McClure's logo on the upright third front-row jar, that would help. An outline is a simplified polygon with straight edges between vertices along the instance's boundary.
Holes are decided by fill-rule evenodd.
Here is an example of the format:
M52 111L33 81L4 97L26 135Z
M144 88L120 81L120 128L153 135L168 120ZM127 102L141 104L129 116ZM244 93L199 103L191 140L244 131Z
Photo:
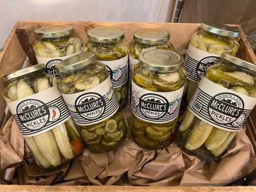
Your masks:
M169 103L163 96L150 93L140 97L139 107L146 117L158 119L168 111Z

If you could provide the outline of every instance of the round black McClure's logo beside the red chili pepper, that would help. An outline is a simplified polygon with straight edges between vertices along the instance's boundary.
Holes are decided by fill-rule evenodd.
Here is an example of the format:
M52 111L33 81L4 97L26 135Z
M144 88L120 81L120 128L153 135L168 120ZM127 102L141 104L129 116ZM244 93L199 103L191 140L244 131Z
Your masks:
M17 105L16 113L20 123L29 130L39 130L49 120L48 106L37 99L26 99Z

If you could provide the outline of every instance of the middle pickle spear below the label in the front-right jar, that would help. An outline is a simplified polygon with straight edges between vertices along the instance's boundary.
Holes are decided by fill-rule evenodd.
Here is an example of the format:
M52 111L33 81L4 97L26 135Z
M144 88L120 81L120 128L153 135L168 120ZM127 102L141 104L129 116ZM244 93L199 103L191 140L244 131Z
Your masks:
M209 137L205 141L205 146L208 150L216 150L219 148L229 136L230 132L214 127Z

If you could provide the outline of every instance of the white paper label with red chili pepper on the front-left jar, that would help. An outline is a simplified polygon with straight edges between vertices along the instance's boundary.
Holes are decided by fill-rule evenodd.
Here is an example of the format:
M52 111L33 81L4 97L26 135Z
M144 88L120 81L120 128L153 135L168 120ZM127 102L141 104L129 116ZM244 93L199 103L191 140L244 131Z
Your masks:
M71 117L56 86L7 105L24 137L47 132Z

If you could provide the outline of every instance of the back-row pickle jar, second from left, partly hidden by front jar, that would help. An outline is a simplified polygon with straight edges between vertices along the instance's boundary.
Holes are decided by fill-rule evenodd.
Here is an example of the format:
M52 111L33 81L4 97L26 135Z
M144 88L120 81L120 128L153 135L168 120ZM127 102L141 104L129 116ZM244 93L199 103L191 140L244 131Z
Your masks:
M123 30L116 27L97 27L88 31L89 41L84 51L93 51L97 60L109 71L119 108L123 109L128 96L128 52Z

